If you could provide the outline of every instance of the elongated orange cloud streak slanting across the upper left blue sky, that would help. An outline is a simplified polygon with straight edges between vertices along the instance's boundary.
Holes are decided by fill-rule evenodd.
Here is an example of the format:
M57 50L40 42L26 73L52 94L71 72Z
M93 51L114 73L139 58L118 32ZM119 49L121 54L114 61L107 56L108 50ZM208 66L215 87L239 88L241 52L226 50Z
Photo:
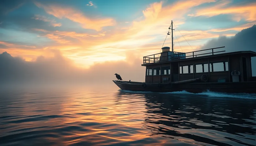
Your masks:
M35 5L39 8L43 8L46 13L55 16L56 18L67 18L73 22L77 22L86 29L94 29L96 31L102 30L106 26L114 26L116 21L113 18L89 18L85 16L81 11L75 10L70 7L63 7L59 5L44 5L39 2L35 2Z

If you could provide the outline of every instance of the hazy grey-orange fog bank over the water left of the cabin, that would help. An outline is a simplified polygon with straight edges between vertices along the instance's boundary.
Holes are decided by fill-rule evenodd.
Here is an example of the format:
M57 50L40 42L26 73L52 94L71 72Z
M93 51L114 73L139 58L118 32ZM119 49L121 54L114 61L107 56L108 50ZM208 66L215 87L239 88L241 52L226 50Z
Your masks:
M53 58L38 57L34 62L27 62L4 52L0 54L1 87L46 87L92 86L114 84L115 73L123 80L142 81L145 79L143 60L127 56L127 61L98 63L89 69L75 67L73 62L63 57L59 51Z

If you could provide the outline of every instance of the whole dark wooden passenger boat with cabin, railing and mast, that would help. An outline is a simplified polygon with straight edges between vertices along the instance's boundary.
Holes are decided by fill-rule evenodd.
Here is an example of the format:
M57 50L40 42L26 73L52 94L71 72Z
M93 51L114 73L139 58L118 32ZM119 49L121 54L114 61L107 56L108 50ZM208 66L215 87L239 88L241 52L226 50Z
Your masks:
M256 77L252 76L251 65L255 52L224 53L225 50L217 50L225 46L187 53L174 52L173 21L170 27L167 35L171 30L172 50L162 46L161 53L143 57L145 82L113 80L121 90L256 93Z

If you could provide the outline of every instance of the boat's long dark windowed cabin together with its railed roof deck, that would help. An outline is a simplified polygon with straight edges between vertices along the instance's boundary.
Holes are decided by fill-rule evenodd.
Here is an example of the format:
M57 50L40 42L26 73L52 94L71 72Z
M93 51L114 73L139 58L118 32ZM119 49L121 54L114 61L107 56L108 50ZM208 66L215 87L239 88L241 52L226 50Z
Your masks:
M170 83L208 76L208 82L255 81L252 76L253 51L223 53L219 48L182 53L163 47L162 52L143 57L145 83Z

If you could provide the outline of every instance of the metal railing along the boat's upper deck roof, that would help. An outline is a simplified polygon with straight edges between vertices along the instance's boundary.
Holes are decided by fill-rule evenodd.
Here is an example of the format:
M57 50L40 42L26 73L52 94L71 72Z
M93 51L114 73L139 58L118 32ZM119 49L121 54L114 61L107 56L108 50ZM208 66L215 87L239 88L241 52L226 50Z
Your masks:
M219 49L219 48L224 48L224 47L204 49L204 50L187 52L187 53L172 52L172 51L157 53L157 54L153 54L153 55L144 56L143 64L166 62L166 61L179 60L179 59L185 59L185 58L196 58L196 57L201 57L202 55L204 55L204 56L206 56L207 54L214 55L216 53L225 52L225 51L214 52L214 49ZM210 52L204 53L204 51L210 51ZM198 54L198 53L201 53L201 54ZM159 54L161 55L160 57L158 57Z

